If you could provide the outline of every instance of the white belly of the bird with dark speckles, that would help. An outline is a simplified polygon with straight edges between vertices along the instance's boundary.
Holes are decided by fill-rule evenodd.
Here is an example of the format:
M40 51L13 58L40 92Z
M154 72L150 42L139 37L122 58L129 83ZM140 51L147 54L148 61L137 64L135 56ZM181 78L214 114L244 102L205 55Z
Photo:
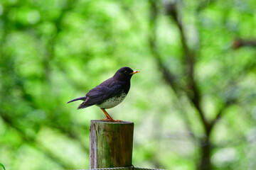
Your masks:
M122 101L124 101L124 98L127 96L124 92L122 94L119 94L118 96L114 96L112 98L108 98L103 103L97 104L100 108L114 108L114 106L119 105Z

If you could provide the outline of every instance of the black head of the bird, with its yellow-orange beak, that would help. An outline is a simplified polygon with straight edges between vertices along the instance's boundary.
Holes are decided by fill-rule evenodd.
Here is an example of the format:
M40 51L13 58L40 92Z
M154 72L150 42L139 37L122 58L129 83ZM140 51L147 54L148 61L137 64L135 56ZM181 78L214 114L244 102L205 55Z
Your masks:
M132 75L138 72L139 71L133 71L130 67L122 67L114 74L114 78L121 81L129 81Z

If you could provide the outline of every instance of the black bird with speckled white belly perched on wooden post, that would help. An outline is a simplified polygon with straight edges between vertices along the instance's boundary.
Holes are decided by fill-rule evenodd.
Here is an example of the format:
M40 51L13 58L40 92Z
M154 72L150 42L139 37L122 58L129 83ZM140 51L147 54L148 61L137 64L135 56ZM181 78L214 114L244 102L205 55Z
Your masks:
M100 107L107 117L102 120L120 122L120 120L112 119L105 109L113 108L124 100L130 88L132 75L138 72L129 67L122 67L117 70L113 77L95 86L85 96L75 98L68 101L68 103L79 100L84 101L78 106L78 109L96 105Z

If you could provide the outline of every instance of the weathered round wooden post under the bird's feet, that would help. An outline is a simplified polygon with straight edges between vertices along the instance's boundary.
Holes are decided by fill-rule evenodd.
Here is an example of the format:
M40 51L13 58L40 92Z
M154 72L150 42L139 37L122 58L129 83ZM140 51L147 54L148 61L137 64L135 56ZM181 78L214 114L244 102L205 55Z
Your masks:
M134 123L91 120L90 169L132 166Z

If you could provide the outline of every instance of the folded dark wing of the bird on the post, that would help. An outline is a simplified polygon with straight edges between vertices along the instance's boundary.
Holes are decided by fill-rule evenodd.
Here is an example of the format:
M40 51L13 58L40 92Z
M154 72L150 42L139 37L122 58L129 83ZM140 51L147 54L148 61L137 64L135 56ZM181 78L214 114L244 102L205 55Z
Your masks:
M102 103L105 99L110 98L115 94L119 94L119 92L122 91L122 86L124 86L122 82L119 82L118 84L113 82L112 84L107 84L107 86L104 84L96 86L86 94L86 100L78 106L78 109Z

